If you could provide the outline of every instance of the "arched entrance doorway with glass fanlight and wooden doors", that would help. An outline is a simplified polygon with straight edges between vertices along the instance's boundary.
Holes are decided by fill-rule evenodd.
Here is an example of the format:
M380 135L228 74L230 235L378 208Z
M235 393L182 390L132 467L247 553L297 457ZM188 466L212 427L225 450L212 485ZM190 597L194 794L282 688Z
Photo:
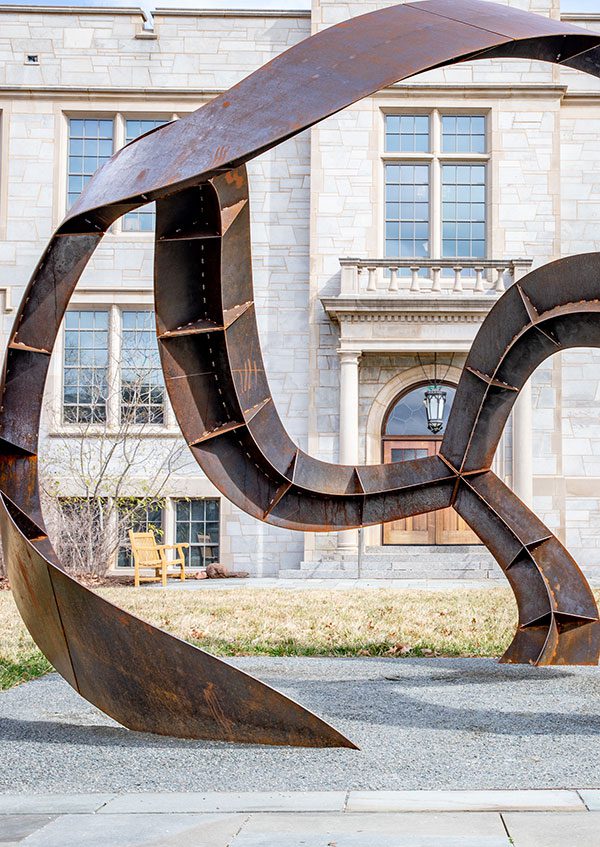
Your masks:
M440 449L448 415L456 394L455 386L443 382L447 393L444 425L437 435L427 428L423 405L428 382L412 385L396 397L383 422L382 459L384 462L408 462L434 456ZM454 509L442 509L426 515L414 515L383 526L383 544L480 544L481 542Z

